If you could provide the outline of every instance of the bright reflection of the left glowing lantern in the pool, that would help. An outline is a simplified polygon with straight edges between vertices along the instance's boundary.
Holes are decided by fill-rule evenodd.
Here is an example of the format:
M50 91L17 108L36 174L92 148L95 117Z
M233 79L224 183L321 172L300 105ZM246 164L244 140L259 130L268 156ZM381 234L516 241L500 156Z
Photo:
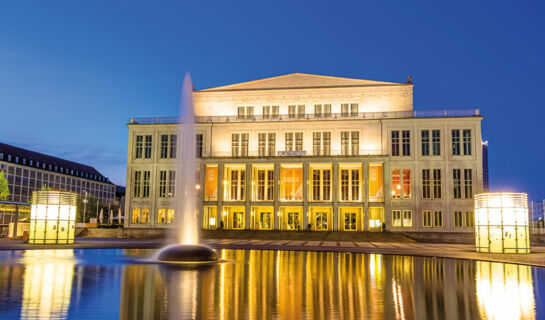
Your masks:
M73 250L27 250L21 318L62 319L68 314Z

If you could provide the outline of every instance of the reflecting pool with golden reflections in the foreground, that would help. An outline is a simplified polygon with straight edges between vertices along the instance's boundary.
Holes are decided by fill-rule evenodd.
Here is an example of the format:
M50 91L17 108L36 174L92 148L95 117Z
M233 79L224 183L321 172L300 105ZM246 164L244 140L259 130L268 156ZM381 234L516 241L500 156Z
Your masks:
M1 319L542 319L545 269L336 252L219 250L170 268L153 250L0 252Z

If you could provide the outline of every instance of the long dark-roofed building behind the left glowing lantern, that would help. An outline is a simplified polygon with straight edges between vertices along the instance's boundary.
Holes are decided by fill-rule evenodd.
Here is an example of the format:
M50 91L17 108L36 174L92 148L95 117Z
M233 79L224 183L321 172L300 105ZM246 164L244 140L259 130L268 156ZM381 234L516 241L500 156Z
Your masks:
M2 224L14 219L13 205L30 204L32 192L42 186L74 191L106 206L114 201L115 185L95 168L5 143L0 143L0 171L10 191L10 203L0 206Z

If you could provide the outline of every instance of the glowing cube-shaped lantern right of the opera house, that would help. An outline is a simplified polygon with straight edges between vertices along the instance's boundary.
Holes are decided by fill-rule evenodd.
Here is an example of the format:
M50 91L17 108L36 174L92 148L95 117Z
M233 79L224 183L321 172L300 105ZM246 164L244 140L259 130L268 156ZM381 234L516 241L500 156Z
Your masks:
M526 193L487 192L475 196L475 249L530 253Z

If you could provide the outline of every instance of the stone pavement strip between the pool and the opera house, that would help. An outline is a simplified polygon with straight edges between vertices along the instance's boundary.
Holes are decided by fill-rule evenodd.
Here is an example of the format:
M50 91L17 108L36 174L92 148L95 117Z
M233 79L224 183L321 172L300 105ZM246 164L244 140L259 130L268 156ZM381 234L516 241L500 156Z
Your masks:
M332 251L354 253L380 253L423 257L485 260L519 263L545 267L545 246L532 246L530 254L491 254L475 252L469 244L452 243L401 243L358 241L302 241L302 240L244 240L205 239L203 242L215 249L243 250L295 250ZM0 239L0 250L27 249L155 249L163 246L163 239L77 238L70 245L31 245L20 240Z

